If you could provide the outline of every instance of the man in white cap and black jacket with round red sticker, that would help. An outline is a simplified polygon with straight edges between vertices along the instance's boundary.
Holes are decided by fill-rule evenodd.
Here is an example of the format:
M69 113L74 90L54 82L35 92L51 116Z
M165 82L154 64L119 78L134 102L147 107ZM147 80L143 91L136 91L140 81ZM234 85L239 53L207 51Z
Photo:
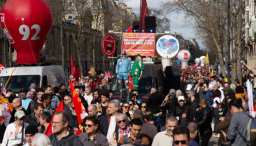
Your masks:
M187 126L189 122L193 121L192 110L185 104L184 96L178 96L178 106L176 107L176 118L180 125Z

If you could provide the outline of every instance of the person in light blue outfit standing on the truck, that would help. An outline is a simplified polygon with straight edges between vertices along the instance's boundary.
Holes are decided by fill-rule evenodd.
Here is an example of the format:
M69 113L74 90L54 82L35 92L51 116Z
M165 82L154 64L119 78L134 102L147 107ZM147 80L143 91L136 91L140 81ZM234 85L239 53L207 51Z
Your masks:
M128 73L131 70L131 61L127 58L127 53L124 51L122 58L118 58L116 64L116 74L118 78L118 88L122 91L121 80L125 80L126 88L128 85Z

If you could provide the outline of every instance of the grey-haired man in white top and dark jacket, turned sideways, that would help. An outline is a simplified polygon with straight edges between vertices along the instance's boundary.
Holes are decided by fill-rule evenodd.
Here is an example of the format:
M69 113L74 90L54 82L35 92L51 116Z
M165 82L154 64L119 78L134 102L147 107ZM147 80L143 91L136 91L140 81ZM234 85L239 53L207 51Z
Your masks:
M116 129L116 115L121 110L121 102L117 99L111 100L108 104L108 114L102 115L100 119L101 132L104 134L108 142L113 139L113 132Z

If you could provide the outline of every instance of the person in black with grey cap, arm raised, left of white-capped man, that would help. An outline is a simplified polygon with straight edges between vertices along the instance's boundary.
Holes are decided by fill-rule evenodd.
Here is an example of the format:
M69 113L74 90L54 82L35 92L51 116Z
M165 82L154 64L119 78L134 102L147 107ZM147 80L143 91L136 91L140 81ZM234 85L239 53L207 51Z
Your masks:
M177 105L178 101L176 98L176 91L174 89L170 89L169 93L165 96L164 101L162 101L162 104L160 105L162 110L166 110L166 118L175 115Z

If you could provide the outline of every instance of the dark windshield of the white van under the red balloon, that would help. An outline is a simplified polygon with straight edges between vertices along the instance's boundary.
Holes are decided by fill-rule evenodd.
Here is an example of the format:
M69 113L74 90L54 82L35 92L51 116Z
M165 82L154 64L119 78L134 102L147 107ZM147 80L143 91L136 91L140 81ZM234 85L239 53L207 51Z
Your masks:
M4 88L4 85L7 82L8 78L9 77L0 77L1 89ZM12 76L6 86L6 89L11 90L14 93L18 93L21 88L29 88L31 83L35 83L36 87L39 88L39 82L39 75Z

